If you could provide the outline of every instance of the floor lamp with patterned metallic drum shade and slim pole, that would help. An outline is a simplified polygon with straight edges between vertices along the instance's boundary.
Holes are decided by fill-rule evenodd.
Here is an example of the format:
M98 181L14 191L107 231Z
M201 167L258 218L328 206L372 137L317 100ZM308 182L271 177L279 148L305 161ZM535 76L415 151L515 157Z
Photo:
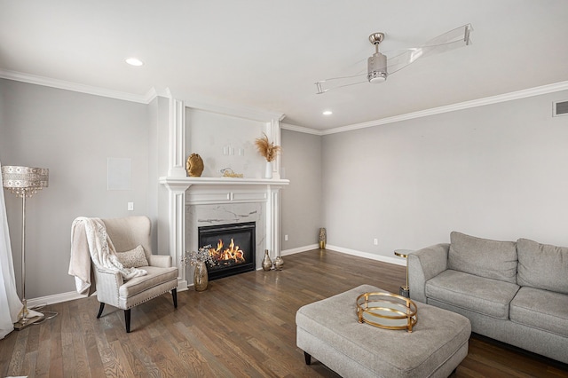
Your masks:
M26 300L26 198L36 194L37 191L49 184L49 169L3 166L2 181L4 188L21 198L21 303L23 308L18 315L18 321L14 323L15 329L22 329L34 324L43 318L42 313L34 311L34 315L28 317L28 301Z

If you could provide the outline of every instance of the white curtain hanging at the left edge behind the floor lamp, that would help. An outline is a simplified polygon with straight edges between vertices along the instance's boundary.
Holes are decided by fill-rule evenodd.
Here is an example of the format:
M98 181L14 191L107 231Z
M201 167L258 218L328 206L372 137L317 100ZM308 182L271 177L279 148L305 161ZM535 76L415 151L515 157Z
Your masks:
M0 166L2 164L0 163ZM12 262L4 185L0 175L0 339L11 333L23 305L16 291L16 276Z

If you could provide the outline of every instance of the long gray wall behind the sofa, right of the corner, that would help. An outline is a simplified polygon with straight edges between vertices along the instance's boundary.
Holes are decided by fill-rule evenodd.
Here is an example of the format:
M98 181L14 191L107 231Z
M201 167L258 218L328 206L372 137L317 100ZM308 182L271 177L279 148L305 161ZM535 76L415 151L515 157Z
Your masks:
M383 256L456 230L568 245L568 91L323 137L327 244ZM378 246L373 243L378 239Z

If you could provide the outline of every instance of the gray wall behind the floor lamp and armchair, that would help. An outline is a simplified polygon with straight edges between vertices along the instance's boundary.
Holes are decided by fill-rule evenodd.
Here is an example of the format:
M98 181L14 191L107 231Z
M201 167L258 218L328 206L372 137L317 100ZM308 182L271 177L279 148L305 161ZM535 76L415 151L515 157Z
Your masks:
M2 164L50 169L49 187L27 201L26 296L73 291L73 219L148 214L148 106L3 79L0 104ZM108 157L131 159L131 190L106 190ZM20 290L21 200L5 200Z

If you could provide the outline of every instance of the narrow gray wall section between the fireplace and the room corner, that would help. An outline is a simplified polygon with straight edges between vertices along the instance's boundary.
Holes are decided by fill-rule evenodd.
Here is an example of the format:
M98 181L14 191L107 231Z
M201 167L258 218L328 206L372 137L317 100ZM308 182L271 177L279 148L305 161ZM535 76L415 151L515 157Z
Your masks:
M322 224L321 137L281 130L280 167L290 185L280 191L281 249L302 248L318 243ZM288 234L288 241L284 235Z

